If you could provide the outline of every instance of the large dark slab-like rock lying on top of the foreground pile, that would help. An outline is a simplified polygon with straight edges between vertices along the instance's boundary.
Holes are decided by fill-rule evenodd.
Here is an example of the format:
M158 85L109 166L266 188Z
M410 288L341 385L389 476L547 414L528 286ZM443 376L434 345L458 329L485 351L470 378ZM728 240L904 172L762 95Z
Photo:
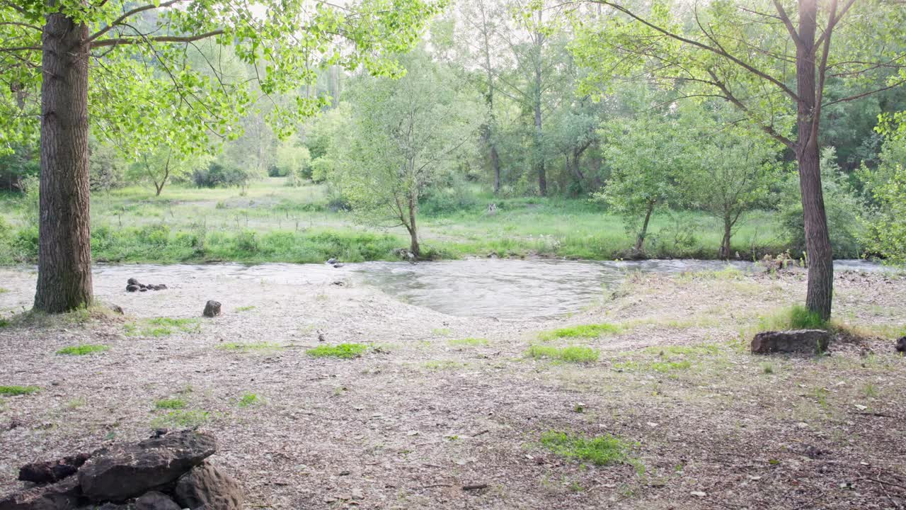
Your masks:
M79 483L92 501L125 501L175 482L216 450L214 436L194 430L114 445L79 469Z

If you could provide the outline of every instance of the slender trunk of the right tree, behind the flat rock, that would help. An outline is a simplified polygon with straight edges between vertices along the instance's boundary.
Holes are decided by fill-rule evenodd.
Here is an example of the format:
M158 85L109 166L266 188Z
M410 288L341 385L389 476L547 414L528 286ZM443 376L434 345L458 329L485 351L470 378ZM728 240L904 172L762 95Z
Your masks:
M808 256L808 290L805 306L822 319L831 317L834 297L834 252L827 231L824 194L821 187L821 165L818 150L819 119L814 118L816 90L814 37L817 28L816 0L799 2L799 37L796 50L796 89L798 104L799 188L805 221L805 252Z

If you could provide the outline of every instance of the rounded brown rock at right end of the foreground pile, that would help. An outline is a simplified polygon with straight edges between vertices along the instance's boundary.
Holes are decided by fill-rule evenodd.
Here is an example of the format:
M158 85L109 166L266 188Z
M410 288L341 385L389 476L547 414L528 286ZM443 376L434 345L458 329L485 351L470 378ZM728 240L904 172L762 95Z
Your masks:
M176 501L193 510L242 510L242 488L233 477L207 462L179 478Z

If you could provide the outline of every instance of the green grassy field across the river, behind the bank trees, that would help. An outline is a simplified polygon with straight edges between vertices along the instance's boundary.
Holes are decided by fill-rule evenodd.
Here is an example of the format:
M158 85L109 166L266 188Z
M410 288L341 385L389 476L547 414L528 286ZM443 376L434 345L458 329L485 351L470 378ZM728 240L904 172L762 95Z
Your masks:
M497 205L496 214L487 204ZM455 207L429 202L423 208L423 249L434 258L470 255L540 255L591 260L621 258L631 236L619 217L601 205L559 198L496 199L476 194ZM36 205L19 195L0 195L0 262L36 257ZM107 262L218 261L321 262L391 260L408 245L401 229L356 224L328 206L320 185L293 188L280 178L236 188L170 186L155 197L130 187L92 195L92 250ZM718 222L698 212L662 213L652 219L650 258L717 256ZM741 257L785 250L768 212L754 212L733 242Z

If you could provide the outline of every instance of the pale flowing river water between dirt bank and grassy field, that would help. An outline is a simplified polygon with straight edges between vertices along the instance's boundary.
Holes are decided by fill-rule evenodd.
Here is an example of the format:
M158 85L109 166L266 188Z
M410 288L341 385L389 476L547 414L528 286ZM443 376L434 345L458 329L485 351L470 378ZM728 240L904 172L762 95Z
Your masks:
M333 268L327 264L99 265L95 285L120 290L132 277L149 283L189 283L239 279L278 284L353 280L381 289L413 305L462 317L543 318L575 312L602 298L602 289L619 284L632 271L679 273L698 270L757 270L751 262L720 260L448 260L442 262L363 262ZM864 260L837 260L837 270L886 270ZM254 286L249 286L250 291Z

